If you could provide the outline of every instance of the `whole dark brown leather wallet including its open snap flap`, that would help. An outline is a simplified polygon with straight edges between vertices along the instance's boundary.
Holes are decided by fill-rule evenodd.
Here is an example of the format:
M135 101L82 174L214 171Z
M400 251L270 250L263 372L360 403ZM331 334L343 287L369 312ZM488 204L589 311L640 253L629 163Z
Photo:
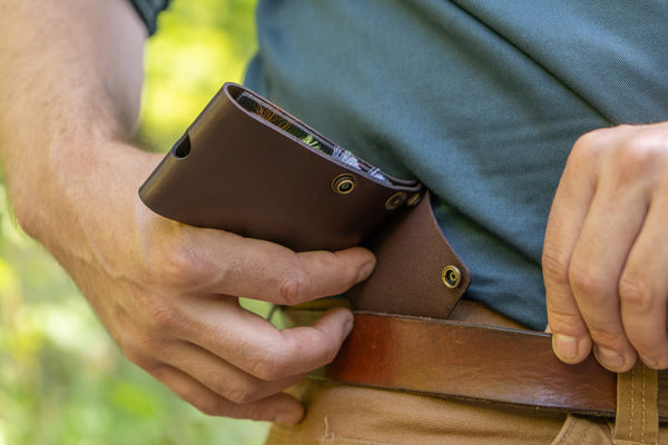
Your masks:
M419 181L384 174L235 83L223 86L139 195L166 218L297 251L364 244L377 265L346 294L360 310L445 318L470 283Z

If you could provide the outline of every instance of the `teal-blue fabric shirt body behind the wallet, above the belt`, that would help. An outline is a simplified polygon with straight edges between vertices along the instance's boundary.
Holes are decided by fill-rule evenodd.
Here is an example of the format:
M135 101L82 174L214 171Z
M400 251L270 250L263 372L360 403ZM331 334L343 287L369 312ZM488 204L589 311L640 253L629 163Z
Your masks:
M587 131L668 120L666 23L661 0L259 0L245 83L420 178L471 269L465 297L542 330L566 159Z

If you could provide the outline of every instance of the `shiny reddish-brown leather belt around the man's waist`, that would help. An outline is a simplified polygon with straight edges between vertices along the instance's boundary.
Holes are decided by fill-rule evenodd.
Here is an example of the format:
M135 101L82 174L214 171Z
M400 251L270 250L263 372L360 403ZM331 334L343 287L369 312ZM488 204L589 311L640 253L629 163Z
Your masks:
M357 313L321 377L353 385L613 417L617 375L590 356L566 365L549 334ZM668 373L658 412L668 421Z

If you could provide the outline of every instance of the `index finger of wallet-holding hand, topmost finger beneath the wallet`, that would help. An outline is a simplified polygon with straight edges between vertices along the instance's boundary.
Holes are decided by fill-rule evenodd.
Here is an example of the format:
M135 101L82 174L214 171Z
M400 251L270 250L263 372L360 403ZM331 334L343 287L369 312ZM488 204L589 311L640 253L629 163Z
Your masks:
M200 258L198 293L295 305L341 294L371 275L375 257L362 247L295 253L234 234L195 229Z

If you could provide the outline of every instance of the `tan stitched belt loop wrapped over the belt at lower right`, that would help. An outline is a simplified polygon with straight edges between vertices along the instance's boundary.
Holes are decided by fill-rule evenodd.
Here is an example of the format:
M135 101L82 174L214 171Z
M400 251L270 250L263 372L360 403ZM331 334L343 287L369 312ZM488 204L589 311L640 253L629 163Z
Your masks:
M657 376L655 369L648 368L640 360L631 370L617 376L613 444L658 444Z

